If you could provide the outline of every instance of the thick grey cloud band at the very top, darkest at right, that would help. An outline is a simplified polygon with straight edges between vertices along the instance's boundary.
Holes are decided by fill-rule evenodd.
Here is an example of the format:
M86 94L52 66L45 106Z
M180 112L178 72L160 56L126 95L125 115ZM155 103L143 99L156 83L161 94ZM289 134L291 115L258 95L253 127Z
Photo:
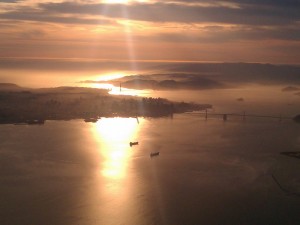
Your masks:
M194 1L198 2L198 1ZM199 1L200 2L200 1ZM181 22L181 23L227 23L243 25L283 25L295 24L300 19L299 8L291 1L283 4L265 4L250 1L232 1L240 5L239 8L217 6L191 6L174 3L135 3L128 6L121 4L80 4L76 2L41 3L41 7L47 12L76 13L124 18L152 22ZM285 6L285 7L283 7ZM289 7L287 7L289 6ZM126 13L124 13L126 11ZM105 13L104 13L105 12Z

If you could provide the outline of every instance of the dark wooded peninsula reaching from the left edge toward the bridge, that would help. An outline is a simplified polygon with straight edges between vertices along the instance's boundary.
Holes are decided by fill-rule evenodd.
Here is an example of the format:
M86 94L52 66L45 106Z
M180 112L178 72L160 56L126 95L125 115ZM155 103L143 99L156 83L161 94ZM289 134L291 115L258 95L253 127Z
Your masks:
M42 124L45 120L100 117L163 117L211 108L208 104L171 102L163 98L109 95L107 90L81 87L43 89L0 88L0 123Z

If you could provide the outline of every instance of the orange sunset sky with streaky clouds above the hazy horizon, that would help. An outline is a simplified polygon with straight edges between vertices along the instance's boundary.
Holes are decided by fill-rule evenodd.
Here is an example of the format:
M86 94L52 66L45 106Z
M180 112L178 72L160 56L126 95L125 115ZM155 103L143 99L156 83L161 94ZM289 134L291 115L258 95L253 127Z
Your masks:
M140 62L300 64L299 11L299 0L0 0L0 82Z

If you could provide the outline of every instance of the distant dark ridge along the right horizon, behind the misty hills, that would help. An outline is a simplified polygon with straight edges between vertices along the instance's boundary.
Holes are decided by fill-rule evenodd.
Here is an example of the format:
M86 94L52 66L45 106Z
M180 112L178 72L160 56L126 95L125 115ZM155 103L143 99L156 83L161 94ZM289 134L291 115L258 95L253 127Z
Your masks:
M167 66L169 72L195 74L232 85L300 84L300 65L261 63L177 63Z

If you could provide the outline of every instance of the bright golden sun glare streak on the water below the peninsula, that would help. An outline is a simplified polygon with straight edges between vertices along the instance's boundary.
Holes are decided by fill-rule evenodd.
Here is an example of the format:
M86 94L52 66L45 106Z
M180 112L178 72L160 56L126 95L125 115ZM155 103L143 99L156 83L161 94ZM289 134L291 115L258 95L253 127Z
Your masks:
M142 219L136 216L138 208L131 199L136 181L130 169L137 148L130 147L130 142L138 140L143 122L143 119L116 117L101 118L92 124L92 138L96 141L95 149L98 149L101 160L90 204L101 204L96 204L98 208L89 213L98 218L97 224L119 224L120 219L127 222ZM141 224L141 221L132 224Z

